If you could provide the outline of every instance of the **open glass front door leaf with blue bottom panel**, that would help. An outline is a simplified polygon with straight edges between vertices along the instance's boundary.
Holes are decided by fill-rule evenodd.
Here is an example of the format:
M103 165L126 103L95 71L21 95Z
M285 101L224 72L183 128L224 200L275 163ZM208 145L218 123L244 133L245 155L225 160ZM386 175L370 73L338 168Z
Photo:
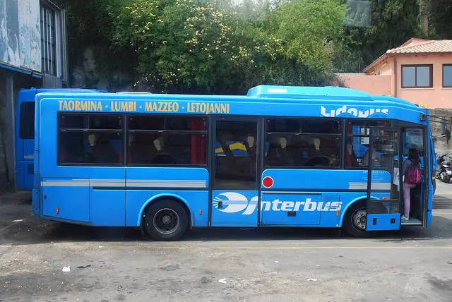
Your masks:
M400 129L370 129L367 164L367 231L400 229L402 179ZM399 174L400 171L400 174Z

